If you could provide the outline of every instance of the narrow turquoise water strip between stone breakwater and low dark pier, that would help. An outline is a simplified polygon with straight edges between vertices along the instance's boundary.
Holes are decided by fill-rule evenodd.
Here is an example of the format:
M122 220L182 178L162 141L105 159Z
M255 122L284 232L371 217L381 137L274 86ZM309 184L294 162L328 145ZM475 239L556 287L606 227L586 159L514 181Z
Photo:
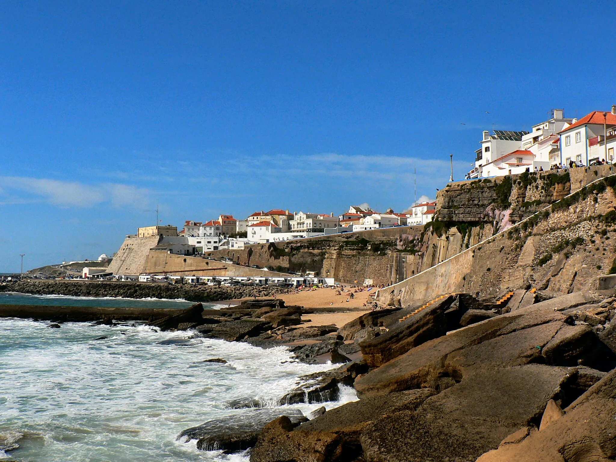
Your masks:
M0 292L0 305L44 306L95 306L118 308L187 308L193 304L184 299L117 298L117 297L71 297L66 295L31 295L15 292ZM217 305L203 305L216 307Z

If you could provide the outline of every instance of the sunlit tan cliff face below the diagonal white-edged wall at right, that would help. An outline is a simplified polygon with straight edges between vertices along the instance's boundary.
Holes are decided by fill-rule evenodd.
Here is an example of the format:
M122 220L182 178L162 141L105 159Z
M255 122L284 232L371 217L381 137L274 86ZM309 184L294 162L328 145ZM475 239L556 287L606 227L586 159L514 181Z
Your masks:
M610 177L582 188L379 297L386 303L400 299L406 306L459 291L497 298L524 287L560 293L594 287L599 275L616 270L610 245L616 238L615 185ZM459 241L459 233L456 227L448 229L447 240Z

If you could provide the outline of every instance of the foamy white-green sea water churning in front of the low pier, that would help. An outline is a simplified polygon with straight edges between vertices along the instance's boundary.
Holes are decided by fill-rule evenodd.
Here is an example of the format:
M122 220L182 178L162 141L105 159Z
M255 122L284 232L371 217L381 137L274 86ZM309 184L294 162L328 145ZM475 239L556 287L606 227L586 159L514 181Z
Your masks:
M179 433L230 416L227 404L259 399L275 407L298 376L331 368L291 360L285 347L261 349L158 332L143 324L94 326L0 319L0 434L23 462L239 461L245 453L202 452ZM95 340L101 336L107 339ZM227 364L207 363L222 358ZM352 389L339 402L355 400ZM323 404L293 405L306 414Z

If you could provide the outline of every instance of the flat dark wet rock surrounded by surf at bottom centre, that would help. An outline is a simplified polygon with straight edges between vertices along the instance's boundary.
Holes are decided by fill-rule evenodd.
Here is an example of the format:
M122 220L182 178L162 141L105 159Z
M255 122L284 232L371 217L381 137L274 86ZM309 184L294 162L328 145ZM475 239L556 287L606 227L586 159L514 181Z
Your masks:
M178 438L196 439L197 448L204 451L237 452L253 447L264 426L280 416L286 416L291 428L308 420L297 409L251 409L188 428Z

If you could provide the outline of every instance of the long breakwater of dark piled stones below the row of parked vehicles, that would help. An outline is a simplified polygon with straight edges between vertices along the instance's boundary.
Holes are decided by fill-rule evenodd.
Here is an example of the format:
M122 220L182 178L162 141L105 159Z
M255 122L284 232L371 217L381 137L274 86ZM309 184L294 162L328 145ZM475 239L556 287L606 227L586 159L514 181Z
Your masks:
M0 283L0 292L73 297L182 298L204 303L248 297L270 297L285 291L285 288L271 286L218 287L120 281L25 279L14 283Z

